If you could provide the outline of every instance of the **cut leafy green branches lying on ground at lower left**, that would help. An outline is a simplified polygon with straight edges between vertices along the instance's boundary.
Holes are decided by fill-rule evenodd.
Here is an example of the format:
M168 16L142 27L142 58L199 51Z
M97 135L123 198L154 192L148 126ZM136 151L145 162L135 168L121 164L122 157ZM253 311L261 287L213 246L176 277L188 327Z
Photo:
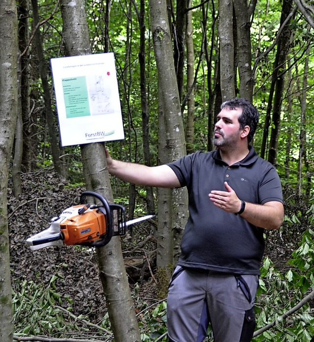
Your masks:
M34 281L15 280L12 289L12 304L14 313L14 335L24 336L50 336L54 338L73 338L78 334L82 336L95 336L96 325L88 322L87 317L71 314L73 300L62 297L56 292L56 281L63 276L57 272L52 275L48 286L37 284ZM61 307L62 305L62 307ZM66 309L62 309L67 307ZM106 315L98 330L105 336L110 329L110 322ZM111 334L111 333L110 333Z

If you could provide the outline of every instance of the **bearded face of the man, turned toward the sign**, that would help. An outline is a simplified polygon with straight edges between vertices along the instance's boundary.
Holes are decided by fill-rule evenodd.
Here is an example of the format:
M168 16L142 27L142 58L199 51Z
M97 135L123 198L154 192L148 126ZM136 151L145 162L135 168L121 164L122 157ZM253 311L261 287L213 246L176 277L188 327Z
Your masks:
M215 124L213 144L222 149L234 149L240 141L239 116L242 114L241 108L230 110L224 108L217 115Z

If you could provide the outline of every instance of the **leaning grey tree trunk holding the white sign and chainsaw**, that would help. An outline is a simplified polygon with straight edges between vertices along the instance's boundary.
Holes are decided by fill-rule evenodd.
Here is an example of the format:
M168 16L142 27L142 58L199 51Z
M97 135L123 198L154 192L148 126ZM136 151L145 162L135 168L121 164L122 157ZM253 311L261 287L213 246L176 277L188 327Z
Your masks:
M84 1L61 0L63 39L70 56L91 52ZM86 187L104 195L113 202L110 178L105 159L104 144L81 146L82 163ZM109 244L97 248L98 263L109 319L116 342L139 342L140 334L134 312L133 300L124 267L119 237Z

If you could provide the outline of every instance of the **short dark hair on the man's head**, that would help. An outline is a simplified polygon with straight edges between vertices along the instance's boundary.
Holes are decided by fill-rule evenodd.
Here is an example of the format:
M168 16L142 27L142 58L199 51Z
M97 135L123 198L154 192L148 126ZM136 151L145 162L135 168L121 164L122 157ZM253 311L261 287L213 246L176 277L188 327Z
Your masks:
M250 127L250 132L247 137L248 143L250 143L253 139L257 124L259 122L258 110L246 98L234 98L229 101L223 102L220 106L220 109L223 108L228 108L231 110L236 108L242 109L242 114L239 116L238 120L240 123L240 128L244 128L244 126Z

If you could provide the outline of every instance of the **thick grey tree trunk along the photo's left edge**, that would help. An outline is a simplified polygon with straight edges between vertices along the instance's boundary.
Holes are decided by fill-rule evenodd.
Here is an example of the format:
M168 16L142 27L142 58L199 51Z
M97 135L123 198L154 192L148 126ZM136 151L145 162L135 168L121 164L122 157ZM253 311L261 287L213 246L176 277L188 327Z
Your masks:
M0 341L13 341L13 312L7 220L9 165L15 132L18 90L18 27L14 0L0 1Z

